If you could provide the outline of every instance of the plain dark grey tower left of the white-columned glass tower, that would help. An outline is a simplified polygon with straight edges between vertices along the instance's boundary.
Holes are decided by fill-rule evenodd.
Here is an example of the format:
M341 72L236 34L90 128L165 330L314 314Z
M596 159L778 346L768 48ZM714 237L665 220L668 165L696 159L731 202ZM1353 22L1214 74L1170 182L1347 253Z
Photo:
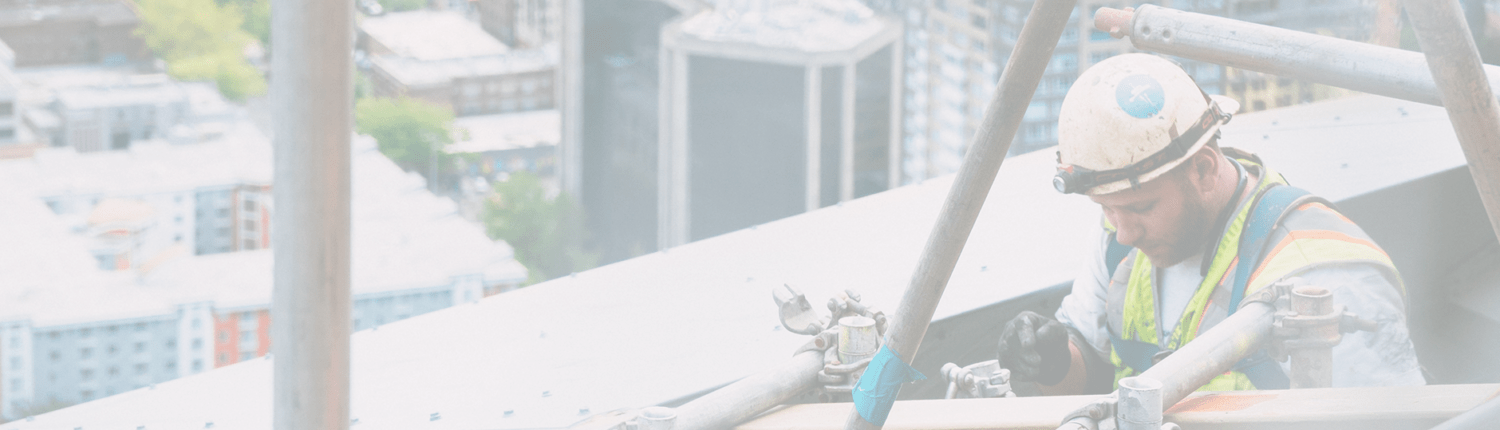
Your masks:
M692 0L566 0L562 190L579 199L602 262L657 249L662 27Z

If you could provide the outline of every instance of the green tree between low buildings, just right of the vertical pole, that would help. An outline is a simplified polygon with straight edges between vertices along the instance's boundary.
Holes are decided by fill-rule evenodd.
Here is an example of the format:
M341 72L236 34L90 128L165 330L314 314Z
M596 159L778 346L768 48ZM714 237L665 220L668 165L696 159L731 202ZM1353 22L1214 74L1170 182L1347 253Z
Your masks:
M453 181L458 156L442 151L453 142L453 112L448 109L408 97L364 97L354 105L354 126L375 138L380 151L402 169L418 172L434 184Z

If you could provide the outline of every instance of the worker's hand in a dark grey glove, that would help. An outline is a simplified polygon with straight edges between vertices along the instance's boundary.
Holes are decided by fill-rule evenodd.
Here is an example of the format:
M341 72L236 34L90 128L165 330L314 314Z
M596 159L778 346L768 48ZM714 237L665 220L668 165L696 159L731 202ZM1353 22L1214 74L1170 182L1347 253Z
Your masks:
M1056 385L1072 364L1068 327L1035 312L1022 312L1005 324L999 358L1000 367L1010 369L1016 381Z

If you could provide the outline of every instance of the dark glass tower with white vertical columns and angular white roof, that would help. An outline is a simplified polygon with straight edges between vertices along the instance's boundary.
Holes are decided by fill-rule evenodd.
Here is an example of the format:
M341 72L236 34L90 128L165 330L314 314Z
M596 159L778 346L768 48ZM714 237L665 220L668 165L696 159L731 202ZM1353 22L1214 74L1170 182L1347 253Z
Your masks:
M662 31L658 246L898 181L900 22L804 3L726 1Z

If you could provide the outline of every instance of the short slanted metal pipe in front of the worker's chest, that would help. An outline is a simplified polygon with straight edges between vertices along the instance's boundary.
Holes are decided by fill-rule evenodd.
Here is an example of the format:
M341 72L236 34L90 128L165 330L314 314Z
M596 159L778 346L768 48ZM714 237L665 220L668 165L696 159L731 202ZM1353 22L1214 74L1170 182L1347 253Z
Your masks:
M1276 309L1250 303L1188 345L1161 360L1140 378L1161 381L1161 406L1172 408L1182 399L1234 367L1234 363L1260 349L1270 337Z

